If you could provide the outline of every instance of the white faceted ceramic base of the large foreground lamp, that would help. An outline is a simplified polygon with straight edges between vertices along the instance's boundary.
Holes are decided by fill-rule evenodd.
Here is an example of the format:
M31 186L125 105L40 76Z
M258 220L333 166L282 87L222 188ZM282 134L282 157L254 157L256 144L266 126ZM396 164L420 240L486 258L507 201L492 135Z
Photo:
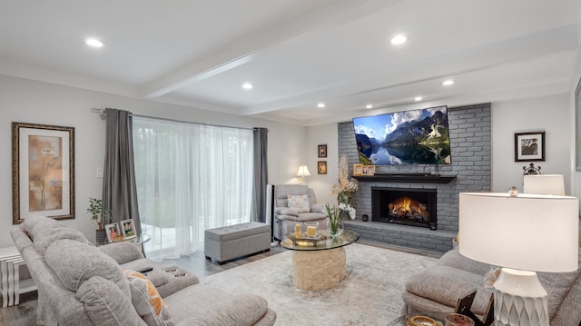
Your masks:
M497 326L548 326L547 291L536 272L503 268L494 283Z

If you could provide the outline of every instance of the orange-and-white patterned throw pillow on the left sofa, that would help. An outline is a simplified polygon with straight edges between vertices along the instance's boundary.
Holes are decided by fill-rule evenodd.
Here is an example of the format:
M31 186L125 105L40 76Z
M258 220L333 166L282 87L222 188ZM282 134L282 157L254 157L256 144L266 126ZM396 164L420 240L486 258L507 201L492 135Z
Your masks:
M172 317L153 283L141 272L123 269L123 275L129 281L133 307L143 321L150 326L173 325Z

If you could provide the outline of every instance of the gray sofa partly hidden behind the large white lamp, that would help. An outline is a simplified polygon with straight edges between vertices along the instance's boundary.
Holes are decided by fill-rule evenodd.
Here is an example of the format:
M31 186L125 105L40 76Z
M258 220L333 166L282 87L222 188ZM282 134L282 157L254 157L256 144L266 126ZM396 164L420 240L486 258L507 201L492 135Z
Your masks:
M539 281L548 292L551 326L581 325L581 251L579 262L576 272L537 273ZM409 277L403 301L409 313L451 312L459 298L477 291L471 311L482 316L492 294L491 287L486 286L491 284L487 274L496 269L496 266L462 256L458 248L453 249L446 252L436 265Z

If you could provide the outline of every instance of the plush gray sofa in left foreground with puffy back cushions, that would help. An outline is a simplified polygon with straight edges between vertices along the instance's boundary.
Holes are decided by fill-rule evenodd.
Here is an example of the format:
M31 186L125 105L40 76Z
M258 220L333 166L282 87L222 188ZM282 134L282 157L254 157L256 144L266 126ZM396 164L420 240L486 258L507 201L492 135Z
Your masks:
M276 314L257 295L232 295L199 284L195 275L143 257L131 242L94 247L84 235L53 219L32 216L11 232L38 286L37 322L43 325L146 325L152 316L135 302L135 278L146 272L153 309L163 325L272 325ZM141 284L141 283L140 283ZM149 286L149 285L148 285ZM151 289L157 291L153 295ZM159 298L162 298L162 301ZM143 303L143 302L142 302ZM146 322L148 321L148 322Z

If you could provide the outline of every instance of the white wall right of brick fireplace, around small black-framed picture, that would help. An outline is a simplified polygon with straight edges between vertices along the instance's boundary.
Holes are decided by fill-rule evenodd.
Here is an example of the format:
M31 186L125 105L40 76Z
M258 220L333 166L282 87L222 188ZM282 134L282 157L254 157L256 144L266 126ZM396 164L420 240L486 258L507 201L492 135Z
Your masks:
M541 173L564 174L566 194L571 194L571 129L568 94L492 104L492 191L511 186L522 191L523 166L515 162L515 133L544 131L546 161L533 162Z

